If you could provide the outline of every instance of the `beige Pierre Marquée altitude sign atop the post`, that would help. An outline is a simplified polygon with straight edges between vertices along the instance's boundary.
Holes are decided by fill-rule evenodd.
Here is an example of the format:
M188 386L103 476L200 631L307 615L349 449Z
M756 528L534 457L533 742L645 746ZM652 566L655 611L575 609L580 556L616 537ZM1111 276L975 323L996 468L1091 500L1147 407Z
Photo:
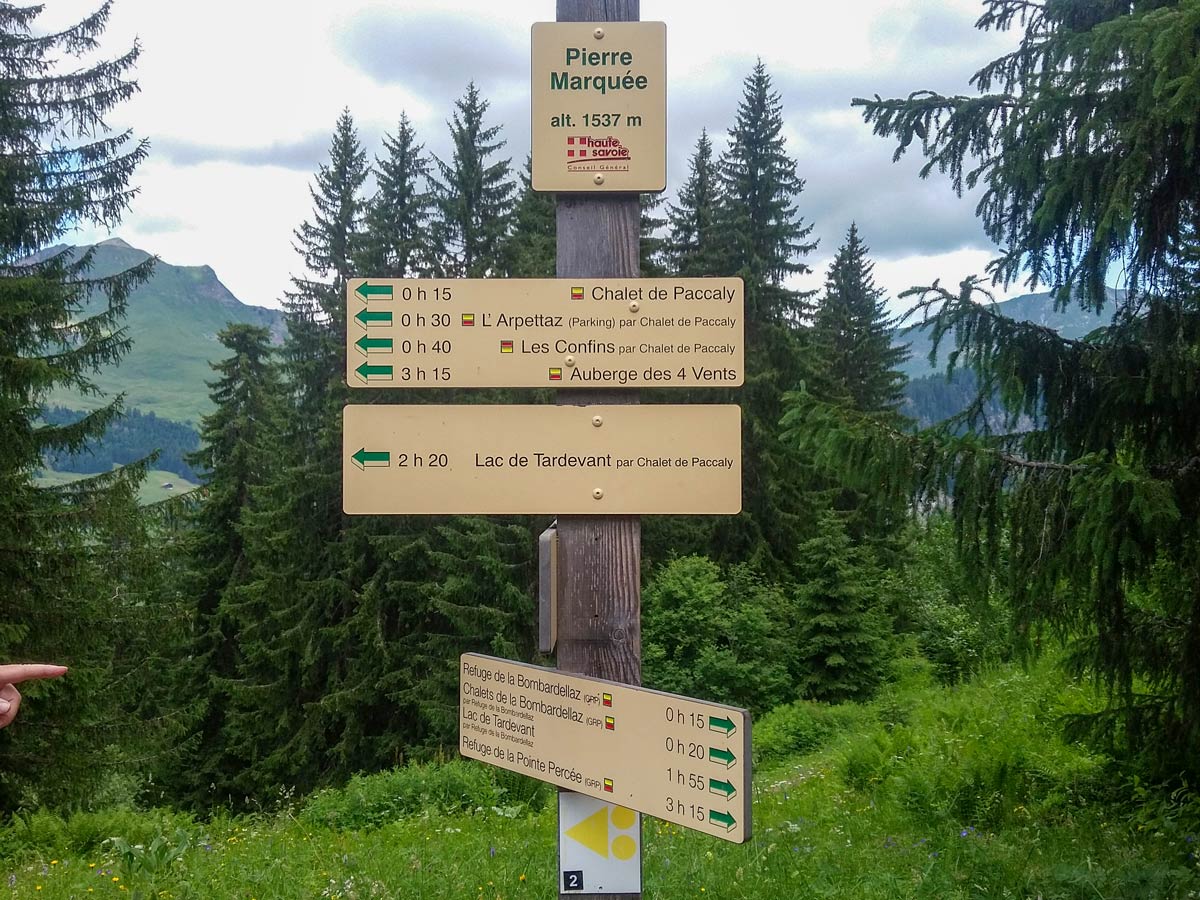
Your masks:
M667 26L533 26L533 190L662 191Z

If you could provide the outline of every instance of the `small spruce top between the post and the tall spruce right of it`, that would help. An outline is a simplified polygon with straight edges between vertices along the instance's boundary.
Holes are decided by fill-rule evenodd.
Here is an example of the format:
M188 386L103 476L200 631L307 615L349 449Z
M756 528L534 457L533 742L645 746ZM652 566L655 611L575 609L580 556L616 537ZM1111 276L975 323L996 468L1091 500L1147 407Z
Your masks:
M713 142L700 133L689 163L688 180L677 203L667 206L668 236L664 247L667 268L685 278L721 271L720 240L715 228L718 193Z

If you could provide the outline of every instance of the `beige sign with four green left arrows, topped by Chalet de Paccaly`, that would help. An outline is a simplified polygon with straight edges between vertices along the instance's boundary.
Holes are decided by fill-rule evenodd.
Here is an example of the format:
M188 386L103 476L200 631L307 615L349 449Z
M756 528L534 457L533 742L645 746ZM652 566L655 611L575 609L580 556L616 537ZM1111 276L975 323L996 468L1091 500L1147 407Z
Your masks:
M728 388L740 278L353 278L352 388Z

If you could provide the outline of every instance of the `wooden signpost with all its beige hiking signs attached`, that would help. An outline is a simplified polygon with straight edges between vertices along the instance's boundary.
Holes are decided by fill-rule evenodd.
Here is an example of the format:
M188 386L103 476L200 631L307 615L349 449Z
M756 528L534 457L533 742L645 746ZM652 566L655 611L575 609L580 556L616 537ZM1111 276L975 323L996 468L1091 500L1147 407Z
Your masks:
M559 785L559 895L641 898L635 810L750 836L745 710L641 689L642 514L740 510L740 410L638 406L737 386L737 278L638 277L638 191L666 187L666 26L557 0L533 29L533 187L557 278L348 287L350 388L562 388L554 407L349 406L348 514L557 512L541 623L558 668L467 654L464 756ZM547 612L548 614L548 612ZM616 800L616 803L613 803Z

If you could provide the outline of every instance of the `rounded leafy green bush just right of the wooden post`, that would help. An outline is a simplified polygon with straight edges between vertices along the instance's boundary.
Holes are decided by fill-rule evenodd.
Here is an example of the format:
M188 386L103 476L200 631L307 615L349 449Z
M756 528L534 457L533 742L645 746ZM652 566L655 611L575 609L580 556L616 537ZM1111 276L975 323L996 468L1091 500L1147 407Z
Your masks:
M792 695L794 613L748 566L703 557L658 570L642 590L642 679L658 690L751 710Z

